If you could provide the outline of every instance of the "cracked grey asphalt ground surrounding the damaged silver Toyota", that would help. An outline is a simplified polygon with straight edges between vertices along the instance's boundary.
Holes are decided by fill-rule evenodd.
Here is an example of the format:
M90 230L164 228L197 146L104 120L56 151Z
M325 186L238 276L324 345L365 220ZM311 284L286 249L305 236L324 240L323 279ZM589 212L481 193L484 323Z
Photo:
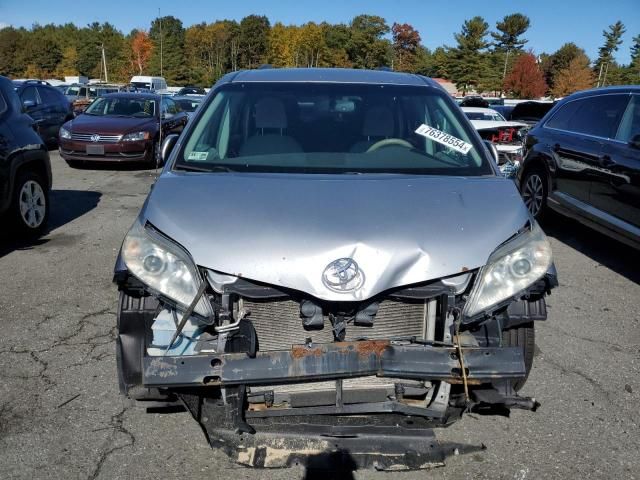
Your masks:
M51 161L51 231L20 244L0 229L0 477L320 478L237 466L187 413L150 414L119 396L111 274L154 172ZM486 446L444 468L355 478L640 478L640 254L566 219L543 227L560 287L523 391L540 409L439 430Z

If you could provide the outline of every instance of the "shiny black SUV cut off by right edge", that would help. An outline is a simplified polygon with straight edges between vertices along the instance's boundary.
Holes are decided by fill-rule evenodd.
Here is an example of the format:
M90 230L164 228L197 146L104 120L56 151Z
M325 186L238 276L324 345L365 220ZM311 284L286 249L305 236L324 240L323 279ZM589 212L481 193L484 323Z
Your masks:
M640 87L575 93L527 136L520 189L548 209L640 247Z

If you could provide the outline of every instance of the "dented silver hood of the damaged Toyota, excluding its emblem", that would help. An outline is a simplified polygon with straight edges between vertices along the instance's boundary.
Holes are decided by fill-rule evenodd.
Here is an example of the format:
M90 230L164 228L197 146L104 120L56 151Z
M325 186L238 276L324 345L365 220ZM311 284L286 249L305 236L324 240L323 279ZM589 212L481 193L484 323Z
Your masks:
M500 177L165 172L140 214L203 267L331 301L484 265L529 220ZM323 272L357 262L361 286Z

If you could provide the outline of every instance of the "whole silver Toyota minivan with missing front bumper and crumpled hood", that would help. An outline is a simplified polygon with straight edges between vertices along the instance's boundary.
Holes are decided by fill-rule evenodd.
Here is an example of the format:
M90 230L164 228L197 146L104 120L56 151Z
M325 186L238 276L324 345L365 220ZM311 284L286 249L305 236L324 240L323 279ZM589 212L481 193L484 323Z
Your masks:
M123 394L262 467L421 468L434 425L535 408L549 242L436 82L260 69L200 108L115 266Z

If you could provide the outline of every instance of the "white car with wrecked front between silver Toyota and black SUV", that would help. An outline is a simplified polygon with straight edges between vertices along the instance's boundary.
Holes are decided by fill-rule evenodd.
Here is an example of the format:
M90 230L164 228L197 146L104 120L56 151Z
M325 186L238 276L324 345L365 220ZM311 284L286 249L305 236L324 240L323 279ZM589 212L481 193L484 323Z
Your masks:
M498 151L498 167L509 178L516 176L524 152L524 137L528 125L508 122L491 108L462 107L480 137L490 141Z

